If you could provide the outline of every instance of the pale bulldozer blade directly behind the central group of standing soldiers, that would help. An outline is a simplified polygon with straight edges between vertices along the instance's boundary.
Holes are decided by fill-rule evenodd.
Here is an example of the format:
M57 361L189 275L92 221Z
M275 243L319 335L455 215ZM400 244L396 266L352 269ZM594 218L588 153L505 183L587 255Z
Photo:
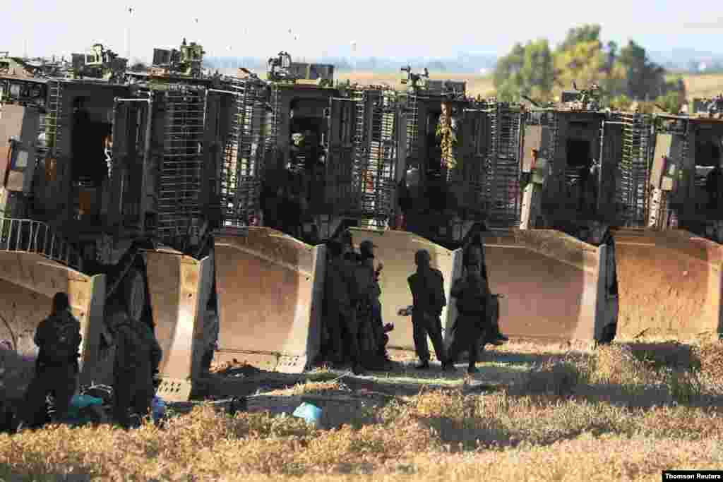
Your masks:
M453 304L450 304L452 282L462 269L462 250L451 251L427 238L407 231L381 231L364 228L350 228L352 242L356 249L362 241L372 241L375 248L375 262L384 264L379 276L382 290L382 319L394 322L394 330L388 333L388 348L396 350L414 350L414 328L411 318L400 315L400 309L412 304L411 291L407 278L416 272L414 253L427 249L432 267L442 272L445 283L447 306L442 309L442 328L448 326L450 316L454 317ZM431 343L431 342L429 342Z

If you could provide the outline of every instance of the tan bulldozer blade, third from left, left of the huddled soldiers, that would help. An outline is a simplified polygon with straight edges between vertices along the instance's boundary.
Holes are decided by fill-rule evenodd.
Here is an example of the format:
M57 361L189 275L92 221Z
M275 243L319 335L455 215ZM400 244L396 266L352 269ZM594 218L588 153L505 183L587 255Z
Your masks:
M216 361L300 373L321 343L325 246L265 227L214 235L219 333Z

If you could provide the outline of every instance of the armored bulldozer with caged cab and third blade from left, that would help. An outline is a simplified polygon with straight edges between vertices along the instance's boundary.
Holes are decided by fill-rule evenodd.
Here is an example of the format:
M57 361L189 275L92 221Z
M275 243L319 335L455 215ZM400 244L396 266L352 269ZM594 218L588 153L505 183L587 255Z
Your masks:
M290 56L277 64L293 65ZM320 350L322 243L393 214L395 92L299 78L315 76L305 72L231 82L214 235L221 361L309 366Z

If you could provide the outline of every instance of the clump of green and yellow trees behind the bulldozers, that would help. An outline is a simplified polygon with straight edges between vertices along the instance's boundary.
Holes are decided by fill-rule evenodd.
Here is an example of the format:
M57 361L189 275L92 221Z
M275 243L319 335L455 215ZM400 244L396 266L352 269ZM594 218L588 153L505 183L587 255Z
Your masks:
M525 95L549 102L560 90L572 90L575 82L578 89L597 84L611 108L637 103L641 111L657 105L677 113L685 102L683 79L667 79L666 70L650 61L645 48L633 40L623 48L612 41L603 43L600 30L595 24L573 27L554 49L545 39L516 43L497 61L497 98L513 101Z

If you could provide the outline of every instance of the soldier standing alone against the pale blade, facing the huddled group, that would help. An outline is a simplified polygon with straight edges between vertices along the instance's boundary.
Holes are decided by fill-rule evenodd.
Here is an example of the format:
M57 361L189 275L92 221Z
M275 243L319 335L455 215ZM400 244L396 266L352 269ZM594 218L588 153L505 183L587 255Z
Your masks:
M414 327L414 350L419 357L419 370L429 369L429 348L427 335L432 339L437 359L443 370L453 370L448 363L445 345L442 341L442 308L447 305L444 291L444 276L440 270L429 266L429 251L420 249L414 254L416 273L407 278L413 301L411 322Z

